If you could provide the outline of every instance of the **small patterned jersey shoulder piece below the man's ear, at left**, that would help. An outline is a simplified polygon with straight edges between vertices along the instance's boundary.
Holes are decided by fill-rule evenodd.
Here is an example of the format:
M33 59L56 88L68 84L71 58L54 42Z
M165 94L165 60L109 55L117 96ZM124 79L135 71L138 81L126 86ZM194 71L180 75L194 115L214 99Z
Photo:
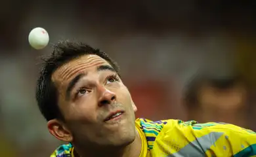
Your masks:
M61 145L54 150L50 157L71 157L73 146L71 143L67 145Z

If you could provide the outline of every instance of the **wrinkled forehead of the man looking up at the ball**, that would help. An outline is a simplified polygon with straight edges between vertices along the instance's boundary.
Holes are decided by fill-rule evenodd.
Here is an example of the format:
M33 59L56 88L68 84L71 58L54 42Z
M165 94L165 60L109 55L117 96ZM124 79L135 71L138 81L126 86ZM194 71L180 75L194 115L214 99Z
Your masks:
M60 82L63 83L67 80L72 79L79 73L85 73L85 71L89 71L89 69L94 69L93 67L98 67L99 65L110 64L108 63L108 61L94 54L80 56L58 67L58 69L56 69L56 71L54 71L52 75L52 80L56 84L59 84Z

